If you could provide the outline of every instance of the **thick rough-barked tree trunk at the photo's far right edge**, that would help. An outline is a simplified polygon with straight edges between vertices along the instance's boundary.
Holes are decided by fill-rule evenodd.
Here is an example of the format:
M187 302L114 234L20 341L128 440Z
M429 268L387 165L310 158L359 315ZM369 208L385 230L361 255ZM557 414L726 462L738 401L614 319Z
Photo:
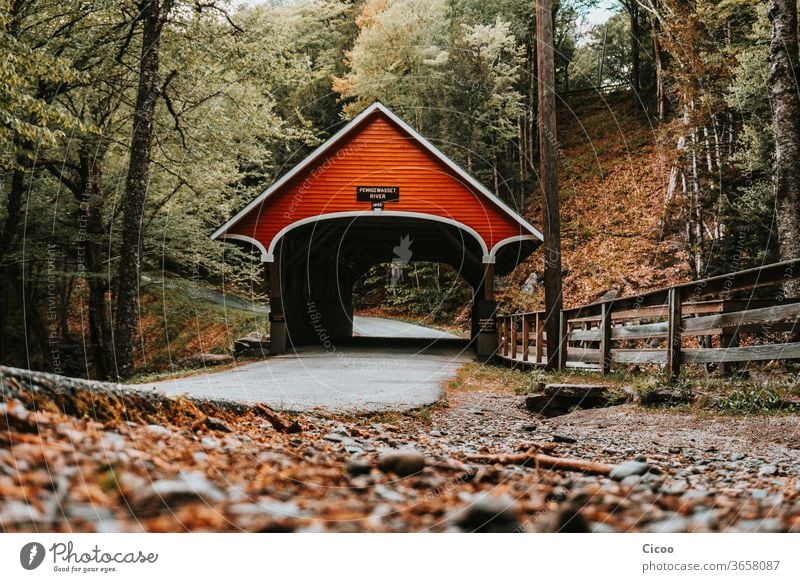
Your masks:
M773 192L780 257L800 257L800 95L797 75L797 0L772 0L770 100L775 136ZM800 280L784 284L788 297L800 296Z

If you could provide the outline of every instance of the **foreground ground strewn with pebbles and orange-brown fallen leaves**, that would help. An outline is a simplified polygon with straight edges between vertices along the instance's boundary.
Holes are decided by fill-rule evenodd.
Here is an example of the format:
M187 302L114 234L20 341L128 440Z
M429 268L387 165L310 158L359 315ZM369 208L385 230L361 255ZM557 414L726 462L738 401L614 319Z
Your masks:
M626 404L546 419L480 390L408 414L290 416L65 395L7 370L3 531L800 531L796 416Z

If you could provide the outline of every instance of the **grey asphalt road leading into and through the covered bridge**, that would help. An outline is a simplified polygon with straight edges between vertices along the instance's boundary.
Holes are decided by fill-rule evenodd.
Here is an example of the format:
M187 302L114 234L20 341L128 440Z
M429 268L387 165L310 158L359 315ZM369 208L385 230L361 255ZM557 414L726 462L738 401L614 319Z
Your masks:
M280 410L408 410L438 400L443 382L473 358L465 340L446 332L374 317L357 318L355 327L361 337L330 349L304 347L264 362L138 388L261 402ZM382 339L386 335L399 339Z

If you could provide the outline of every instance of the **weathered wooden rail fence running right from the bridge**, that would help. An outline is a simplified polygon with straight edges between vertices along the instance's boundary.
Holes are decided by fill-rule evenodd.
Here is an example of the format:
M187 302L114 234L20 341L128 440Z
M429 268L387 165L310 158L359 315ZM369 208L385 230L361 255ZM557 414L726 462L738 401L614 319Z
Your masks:
M800 332L800 298L781 291L769 299L730 298L797 278L800 259L565 309L555 364L603 373L613 363L663 364L675 376L683 364L800 359L800 342L775 341L776 334ZM545 320L543 311L499 316L498 358L544 365Z

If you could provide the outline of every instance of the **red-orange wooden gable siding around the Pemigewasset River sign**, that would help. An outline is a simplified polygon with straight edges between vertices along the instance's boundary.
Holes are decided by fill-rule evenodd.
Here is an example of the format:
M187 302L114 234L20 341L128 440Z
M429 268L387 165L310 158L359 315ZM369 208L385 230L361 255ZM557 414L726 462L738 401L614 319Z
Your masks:
M387 202L384 210L455 220L477 231L489 249L508 237L530 234L380 111L255 206L227 234L246 235L269 248L281 229L304 218L371 211L369 203L356 201L356 186L399 186L400 201Z

